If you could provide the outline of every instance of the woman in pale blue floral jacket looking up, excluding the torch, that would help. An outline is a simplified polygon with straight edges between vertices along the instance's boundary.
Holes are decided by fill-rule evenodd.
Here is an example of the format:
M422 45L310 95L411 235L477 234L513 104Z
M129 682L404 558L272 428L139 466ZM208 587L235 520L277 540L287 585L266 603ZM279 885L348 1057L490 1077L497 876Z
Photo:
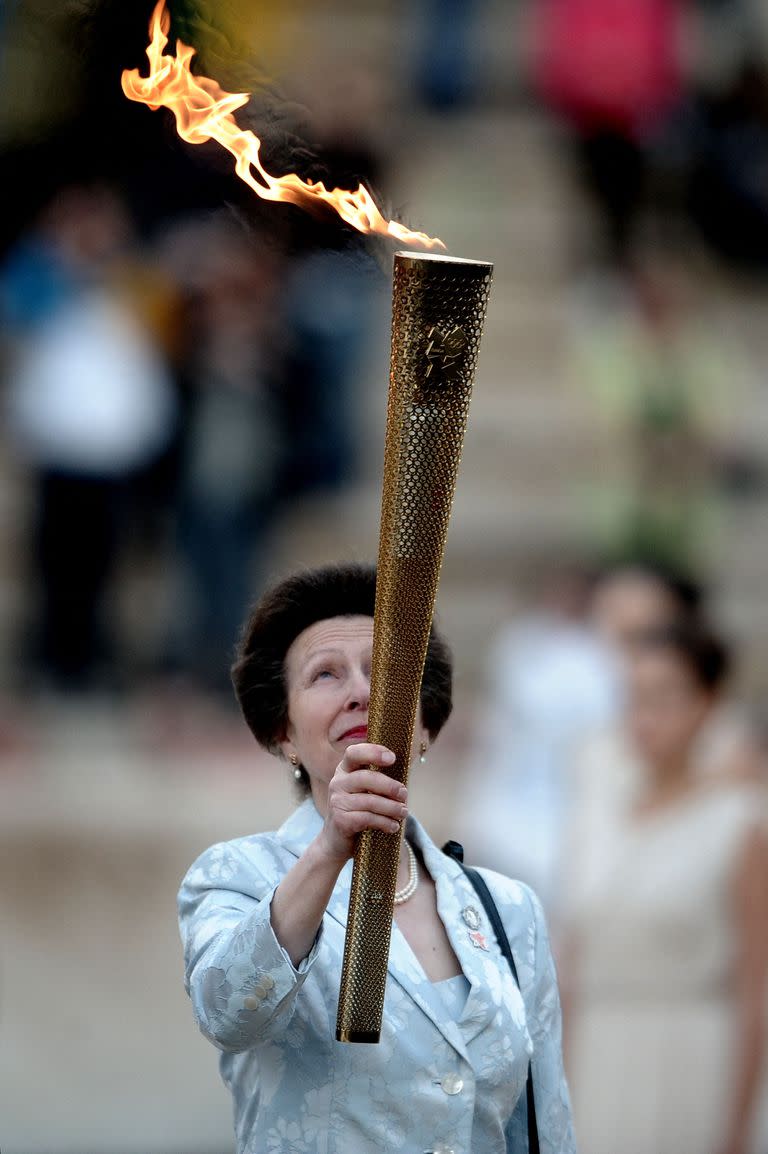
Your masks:
M483 871L519 986L461 865L408 812L367 741L376 574L303 571L269 591L233 668L246 721L293 766L304 801L276 833L213 846L179 894L186 984L221 1050L239 1154L525 1154L528 1067L540 1148L575 1149L560 1010L535 896ZM451 712L449 651L432 630L413 755ZM336 1041L357 835L401 850L378 1044Z

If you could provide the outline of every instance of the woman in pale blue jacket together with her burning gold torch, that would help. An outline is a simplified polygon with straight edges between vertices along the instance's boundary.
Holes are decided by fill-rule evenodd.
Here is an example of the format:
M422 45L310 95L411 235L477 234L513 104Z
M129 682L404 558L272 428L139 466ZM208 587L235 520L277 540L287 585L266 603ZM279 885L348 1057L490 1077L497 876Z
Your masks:
M444 247L386 220L362 185L274 177L233 115L248 97L193 75L189 46L166 53L164 0L150 28L150 75L126 70L123 91L171 108L189 143L218 141L257 196ZM336 567L278 585L246 627L234 667L246 720L307 796L276 833L209 849L179 897L187 988L223 1051L239 1154L574 1149L539 902L491 874L480 898L408 815L404 784L451 711L430 623L491 273L488 262L394 257L382 612L374 570ZM371 669L371 737L386 732L386 744L367 740ZM386 967L368 972L368 954Z

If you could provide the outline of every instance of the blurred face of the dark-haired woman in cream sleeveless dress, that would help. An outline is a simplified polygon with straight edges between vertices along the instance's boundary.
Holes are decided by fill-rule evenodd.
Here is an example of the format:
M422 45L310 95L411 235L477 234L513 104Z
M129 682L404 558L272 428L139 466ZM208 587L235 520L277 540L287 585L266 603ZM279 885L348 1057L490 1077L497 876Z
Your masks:
M638 752L650 765L686 760L714 702L675 652L646 650L633 658L627 724Z

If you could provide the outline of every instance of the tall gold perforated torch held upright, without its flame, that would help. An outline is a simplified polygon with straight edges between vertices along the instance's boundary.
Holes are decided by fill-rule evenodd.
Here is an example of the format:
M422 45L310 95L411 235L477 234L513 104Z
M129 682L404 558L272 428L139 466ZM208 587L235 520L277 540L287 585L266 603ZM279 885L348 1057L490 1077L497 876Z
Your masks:
M368 740L405 782L492 264L397 253ZM367 830L352 875L336 1036L378 1042L400 835Z

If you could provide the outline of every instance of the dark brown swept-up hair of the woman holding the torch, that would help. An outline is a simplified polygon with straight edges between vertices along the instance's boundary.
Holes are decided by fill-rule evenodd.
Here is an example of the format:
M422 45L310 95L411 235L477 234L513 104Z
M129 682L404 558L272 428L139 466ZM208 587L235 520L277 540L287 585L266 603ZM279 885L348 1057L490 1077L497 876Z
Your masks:
M256 741L276 751L288 722L285 657L299 634L329 617L374 616L376 569L356 563L293 574L253 608L238 645L232 682ZM434 740L453 707L451 652L432 627L421 683L421 717Z

